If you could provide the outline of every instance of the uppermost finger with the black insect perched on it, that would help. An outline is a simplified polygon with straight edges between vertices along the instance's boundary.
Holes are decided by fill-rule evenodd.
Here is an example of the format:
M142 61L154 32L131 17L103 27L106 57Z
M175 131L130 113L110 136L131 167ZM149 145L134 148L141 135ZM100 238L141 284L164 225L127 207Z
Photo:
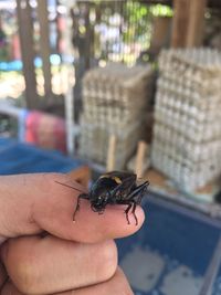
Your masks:
M140 207L136 209L136 225L133 218L127 224L124 206L108 206L104 214L98 214L87 200L81 201L73 222L80 192L56 181L69 183L70 179L61 173L0 177L0 240L46 231L62 239L93 243L130 235L141 226Z

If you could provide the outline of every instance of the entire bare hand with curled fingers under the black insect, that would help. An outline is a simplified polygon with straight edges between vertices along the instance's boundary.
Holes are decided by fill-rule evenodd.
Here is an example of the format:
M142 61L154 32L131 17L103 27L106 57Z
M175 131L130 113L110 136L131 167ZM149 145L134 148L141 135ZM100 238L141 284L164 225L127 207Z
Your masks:
M87 200L73 222L78 189L66 175L40 173L0 177L0 294L131 295L117 266L114 239L130 235L124 206L109 206L104 214Z

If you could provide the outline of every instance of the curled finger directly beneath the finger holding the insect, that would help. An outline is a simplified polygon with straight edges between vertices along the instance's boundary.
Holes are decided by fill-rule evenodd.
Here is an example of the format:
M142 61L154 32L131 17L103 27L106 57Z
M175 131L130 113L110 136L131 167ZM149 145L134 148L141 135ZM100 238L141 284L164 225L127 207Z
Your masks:
M2 245L2 261L21 292L52 294L108 281L117 268L117 250L113 240L85 244L24 236Z

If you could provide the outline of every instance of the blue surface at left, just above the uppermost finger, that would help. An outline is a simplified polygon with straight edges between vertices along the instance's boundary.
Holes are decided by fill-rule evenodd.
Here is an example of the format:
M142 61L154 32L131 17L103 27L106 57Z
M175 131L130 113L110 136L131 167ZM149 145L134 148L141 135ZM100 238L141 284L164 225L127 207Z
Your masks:
M81 161L67 158L55 150L43 150L12 139L0 138L0 175L69 172L81 165Z

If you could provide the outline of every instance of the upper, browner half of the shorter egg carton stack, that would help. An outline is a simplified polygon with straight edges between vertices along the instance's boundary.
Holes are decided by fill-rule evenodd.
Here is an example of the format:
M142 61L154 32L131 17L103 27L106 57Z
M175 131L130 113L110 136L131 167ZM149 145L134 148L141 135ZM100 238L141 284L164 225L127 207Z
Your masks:
M109 64L88 71L83 78L83 116L99 124L127 125L148 106L152 71Z

